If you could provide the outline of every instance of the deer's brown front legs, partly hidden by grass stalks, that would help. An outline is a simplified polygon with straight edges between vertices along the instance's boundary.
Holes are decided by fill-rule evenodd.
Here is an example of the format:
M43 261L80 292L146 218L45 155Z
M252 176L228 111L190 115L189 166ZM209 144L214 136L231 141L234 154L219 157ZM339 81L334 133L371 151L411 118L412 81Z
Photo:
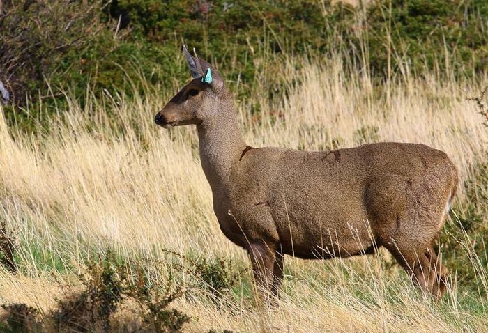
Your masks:
M262 300L269 301L275 294L276 246L266 242L250 244L247 249L251 258L254 281Z

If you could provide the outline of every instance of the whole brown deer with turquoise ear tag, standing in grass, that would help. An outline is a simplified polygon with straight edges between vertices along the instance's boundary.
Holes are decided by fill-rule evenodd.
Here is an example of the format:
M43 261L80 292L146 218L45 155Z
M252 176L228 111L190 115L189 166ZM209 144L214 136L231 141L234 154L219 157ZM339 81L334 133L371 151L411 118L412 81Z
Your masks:
M380 247L423 293L444 295L447 270L433 245L457 190L448 155L397 142L328 151L248 146L220 72L182 49L192 80L154 121L197 127L215 216L249 254L260 297L278 297L285 254L347 258Z

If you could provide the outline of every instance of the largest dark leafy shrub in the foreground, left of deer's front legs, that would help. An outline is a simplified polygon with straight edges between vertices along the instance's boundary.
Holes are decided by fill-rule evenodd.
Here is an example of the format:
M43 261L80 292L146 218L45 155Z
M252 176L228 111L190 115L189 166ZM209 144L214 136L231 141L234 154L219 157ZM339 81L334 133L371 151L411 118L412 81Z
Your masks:
M82 275L81 291L69 290L58 300L52 318L57 331L112 332L116 327L137 327L137 332L180 332L190 317L169 304L186 293L183 286L174 287L171 280L162 295L148 282L142 265L134 265L134 277L127 274L128 264L112 251L98 263L91 263ZM143 325L114 320L112 315L125 300L139 304L136 313ZM135 322L139 321L136 319Z

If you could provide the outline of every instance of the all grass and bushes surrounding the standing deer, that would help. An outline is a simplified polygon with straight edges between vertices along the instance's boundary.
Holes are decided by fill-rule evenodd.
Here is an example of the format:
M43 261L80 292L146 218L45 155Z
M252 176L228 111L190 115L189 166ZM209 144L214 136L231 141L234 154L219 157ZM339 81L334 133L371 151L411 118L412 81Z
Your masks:
M477 35L488 29L484 1L373 1L367 8L302 1L301 9L283 2L280 10L272 1L226 10L212 1L207 16L197 8L183 18L178 5L156 1L73 3L100 16L73 11L60 22L94 20L79 23L86 38L109 37L86 44L73 37L62 52L50 49L60 62L54 74L47 63L33 67L42 79L21 71L18 90L7 86L22 93L0 106L0 330L487 332L487 35ZM0 8L8 31L21 29L9 21L21 9L15 1ZM246 39L239 20L256 40ZM227 23L218 29L219 22ZM235 30L226 30L229 22ZM32 36L52 47L47 35ZM259 306L245 251L213 215L195 129L153 123L189 79L183 38L219 65L251 146L328 150L401 141L448 153L460 183L438 242L450 272L443 300L422 295L381 250L345 260L287 258L280 300ZM77 67L82 59L93 61L86 72Z

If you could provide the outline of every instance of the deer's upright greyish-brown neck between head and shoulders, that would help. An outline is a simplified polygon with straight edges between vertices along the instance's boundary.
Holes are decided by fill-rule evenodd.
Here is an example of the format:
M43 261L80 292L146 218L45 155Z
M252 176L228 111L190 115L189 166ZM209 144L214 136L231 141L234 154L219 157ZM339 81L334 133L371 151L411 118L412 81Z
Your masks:
M246 148L234 102L220 103L218 114L197 126L201 166L213 191L229 184L231 166Z

